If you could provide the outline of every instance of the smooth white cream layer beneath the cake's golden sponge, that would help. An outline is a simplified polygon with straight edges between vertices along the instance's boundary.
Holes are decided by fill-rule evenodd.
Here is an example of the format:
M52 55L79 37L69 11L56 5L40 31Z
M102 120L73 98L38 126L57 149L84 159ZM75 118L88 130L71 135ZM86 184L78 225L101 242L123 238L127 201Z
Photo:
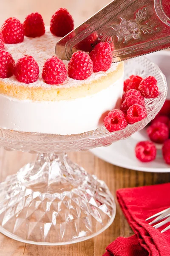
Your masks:
M119 107L122 93L123 76L99 93L69 101L32 102L0 94L0 127L61 135L91 131L102 126L105 112Z

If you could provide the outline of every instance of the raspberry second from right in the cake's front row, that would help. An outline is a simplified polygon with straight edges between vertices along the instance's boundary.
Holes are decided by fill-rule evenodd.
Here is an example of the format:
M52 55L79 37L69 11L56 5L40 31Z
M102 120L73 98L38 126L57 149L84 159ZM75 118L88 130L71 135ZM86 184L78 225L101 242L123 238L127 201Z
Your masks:
M68 76L76 80L84 80L91 76L93 62L85 52L74 52L68 63Z

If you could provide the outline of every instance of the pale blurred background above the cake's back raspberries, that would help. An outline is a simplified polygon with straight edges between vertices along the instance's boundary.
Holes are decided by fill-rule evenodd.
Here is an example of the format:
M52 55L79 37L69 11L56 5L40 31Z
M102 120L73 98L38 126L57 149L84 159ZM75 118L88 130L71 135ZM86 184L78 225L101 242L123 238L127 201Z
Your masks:
M16 17L23 22L30 12L39 12L47 26L51 16L60 7L68 9L75 26L78 26L110 2L111 0L0 0L0 26L8 17Z

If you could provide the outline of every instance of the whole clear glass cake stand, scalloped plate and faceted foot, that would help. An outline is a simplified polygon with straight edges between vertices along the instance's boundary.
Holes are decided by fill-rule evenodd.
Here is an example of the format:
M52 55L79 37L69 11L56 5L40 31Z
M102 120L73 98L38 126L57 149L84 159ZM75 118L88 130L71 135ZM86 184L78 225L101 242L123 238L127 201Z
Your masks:
M90 239L113 222L116 205L108 187L96 176L72 163L65 152L108 146L144 128L160 111L167 83L159 68L140 57L125 63L131 74L155 76L160 96L147 99L147 118L122 131L105 127L83 134L60 136L0 129L0 146L6 150L38 154L17 174L0 183L0 232L30 244L71 244Z

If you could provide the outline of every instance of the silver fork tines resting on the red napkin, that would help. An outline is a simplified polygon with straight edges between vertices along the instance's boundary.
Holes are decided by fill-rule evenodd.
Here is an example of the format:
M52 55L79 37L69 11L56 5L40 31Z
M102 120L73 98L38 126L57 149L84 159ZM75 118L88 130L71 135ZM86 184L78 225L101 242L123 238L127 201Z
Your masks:
M170 222L170 208L167 208L161 212L156 213L155 215L152 215L151 217L147 218L146 221L149 221L152 218L155 218L155 219L153 221L151 221L149 223L149 225L157 223L156 225L153 226L155 229L162 227L164 224L167 224L168 222ZM164 220L164 221L161 221L161 220ZM159 222L159 221L161 221L161 222ZM165 231L167 231L169 229L170 229L170 225L167 226L166 228L164 228L163 230L161 230L161 233L164 233Z

